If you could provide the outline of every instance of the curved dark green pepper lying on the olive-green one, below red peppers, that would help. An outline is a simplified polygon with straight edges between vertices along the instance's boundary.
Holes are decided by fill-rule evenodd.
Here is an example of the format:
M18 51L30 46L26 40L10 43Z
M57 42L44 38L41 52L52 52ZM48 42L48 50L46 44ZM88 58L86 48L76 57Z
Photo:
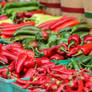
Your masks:
M17 30L17 31L15 31L14 32L14 34L13 34L13 36L17 36L17 35L23 35L23 34L25 34L25 35L35 35L35 34L37 34L38 33L38 31L33 31L33 30L22 30L22 29L20 29L20 30Z

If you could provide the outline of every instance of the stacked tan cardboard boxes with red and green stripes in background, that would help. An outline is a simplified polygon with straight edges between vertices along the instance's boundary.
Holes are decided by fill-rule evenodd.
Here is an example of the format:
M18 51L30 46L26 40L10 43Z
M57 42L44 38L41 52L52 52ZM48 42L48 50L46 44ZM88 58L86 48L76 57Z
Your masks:
M0 0L4 1L4 0ZM30 0L5 0L19 2ZM37 0L43 4L45 12L55 16L67 15L82 18L84 22L92 24L92 0ZM89 3L90 2L90 3Z

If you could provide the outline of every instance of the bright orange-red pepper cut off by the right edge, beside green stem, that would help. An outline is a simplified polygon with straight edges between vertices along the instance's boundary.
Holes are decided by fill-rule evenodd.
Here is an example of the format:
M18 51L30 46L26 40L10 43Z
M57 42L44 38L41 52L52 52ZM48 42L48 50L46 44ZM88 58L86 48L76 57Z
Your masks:
M92 50L92 43L80 46L79 49L82 50L84 55L87 55Z

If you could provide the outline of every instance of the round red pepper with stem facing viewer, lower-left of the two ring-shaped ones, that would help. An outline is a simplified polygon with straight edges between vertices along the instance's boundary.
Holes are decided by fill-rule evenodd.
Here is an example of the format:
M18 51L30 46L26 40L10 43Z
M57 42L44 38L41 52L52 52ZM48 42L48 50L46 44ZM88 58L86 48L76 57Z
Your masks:
M68 47L67 47L67 45L64 44L64 43L58 44L58 45L56 46L56 51L57 51L57 53L60 54L60 55L64 55L65 53L68 53L67 50L68 50Z

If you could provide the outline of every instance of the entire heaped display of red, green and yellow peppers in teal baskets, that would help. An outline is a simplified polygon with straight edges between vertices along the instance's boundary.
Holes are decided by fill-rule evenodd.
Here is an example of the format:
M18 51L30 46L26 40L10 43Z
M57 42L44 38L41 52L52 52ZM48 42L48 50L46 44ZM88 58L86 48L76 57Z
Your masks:
M91 92L92 25L42 8L1 3L0 92Z

